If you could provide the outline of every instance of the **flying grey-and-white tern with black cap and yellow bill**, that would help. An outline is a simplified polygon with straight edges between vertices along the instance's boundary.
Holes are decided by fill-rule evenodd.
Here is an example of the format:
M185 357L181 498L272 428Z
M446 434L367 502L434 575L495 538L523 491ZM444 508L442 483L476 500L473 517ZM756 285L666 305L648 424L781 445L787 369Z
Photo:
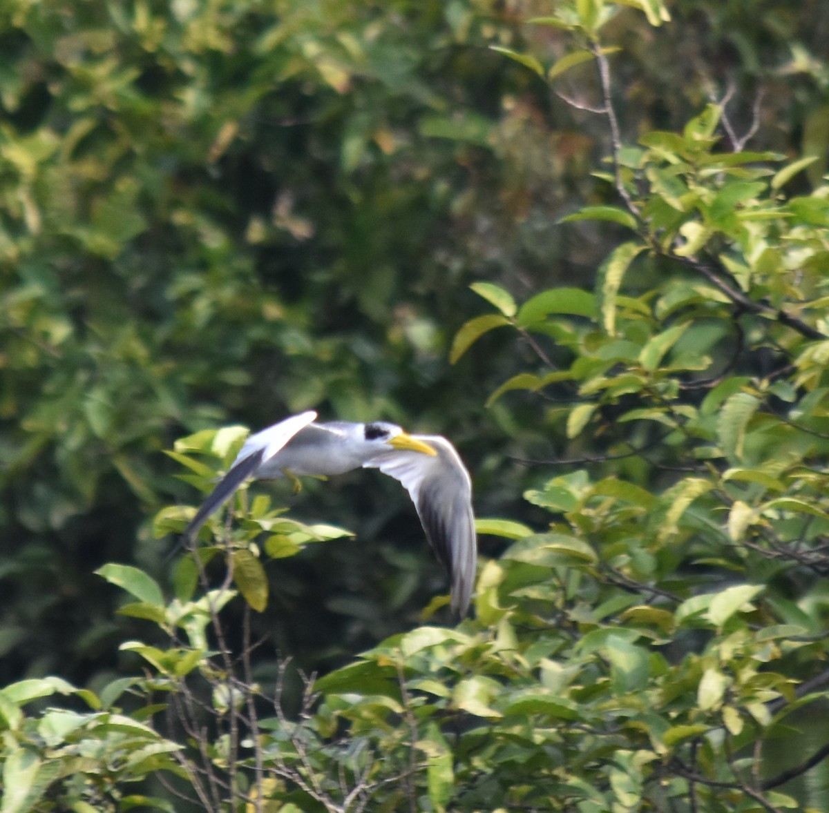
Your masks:
M317 423L303 412L245 440L227 474L184 532L191 541L249 477L297 479L380 469L409 492L435 556L452 582L452 609L465 615L475 581L478 549L472 481L455 447L440 435L409 435L385 421Z

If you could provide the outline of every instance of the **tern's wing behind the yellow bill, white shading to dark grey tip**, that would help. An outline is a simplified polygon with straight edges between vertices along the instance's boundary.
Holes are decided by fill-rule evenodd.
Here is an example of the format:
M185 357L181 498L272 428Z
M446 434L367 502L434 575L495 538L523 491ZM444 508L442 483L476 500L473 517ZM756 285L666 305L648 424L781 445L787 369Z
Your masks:
M466 613L475 584L478 545L472 509L472 481L455 447L439 435L412 435L438 453L394 450L367 461L366 469L380 469L400 480L435 555L452 580L452 609Z

